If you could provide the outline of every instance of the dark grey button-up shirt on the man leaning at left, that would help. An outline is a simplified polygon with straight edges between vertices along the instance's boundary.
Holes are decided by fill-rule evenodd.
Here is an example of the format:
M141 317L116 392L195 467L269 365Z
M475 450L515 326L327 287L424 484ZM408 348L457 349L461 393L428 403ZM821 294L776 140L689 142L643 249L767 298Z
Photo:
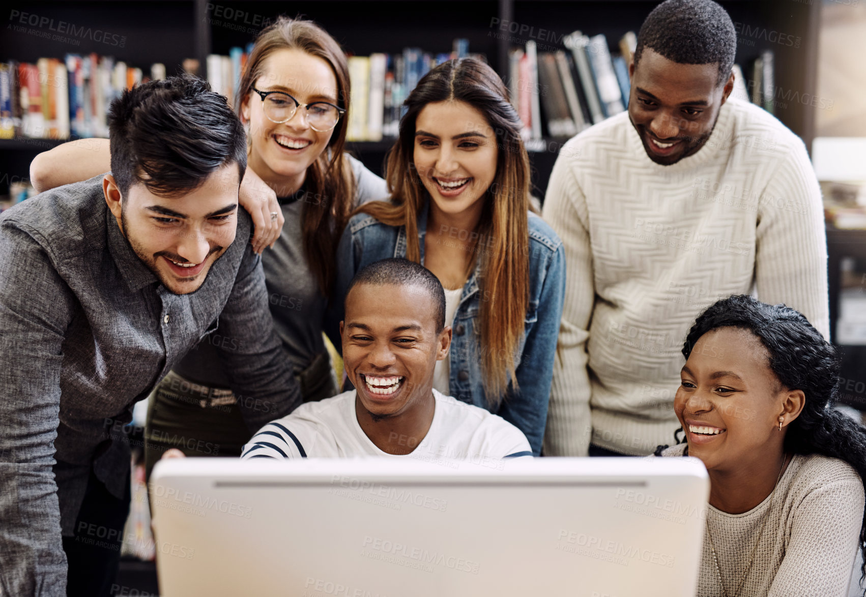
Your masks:
M42 193L0 215L6 595L66 594L61 531L73 534L91 468L124 495L130 455L117 421L131 420L132 404L216 331L213 322L233 340L219 357L250 434L301 402L249 245L249 215L238 209L235 241L197 292L172 294L120 233L101 181Z

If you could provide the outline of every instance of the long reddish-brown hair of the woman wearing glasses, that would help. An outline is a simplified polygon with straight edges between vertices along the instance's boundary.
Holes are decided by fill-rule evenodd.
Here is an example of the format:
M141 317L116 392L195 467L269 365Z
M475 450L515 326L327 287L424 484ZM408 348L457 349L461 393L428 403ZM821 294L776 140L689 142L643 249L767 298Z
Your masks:
M237 87L235 106L238 114L243 102L249 101L255 81L263 74L263 62L280 49L300 49L326 61L337 79L337 105L346 110L333 129L326 151L322 151L307 169L306 187L313 200L305 202L302 216L307 261L319 282L320 291L327 296L336 270L337 242L352 211L355 196L352 166L343 155L351 91L349 67L339 43L325 29L312 21L280 16L255 38Z

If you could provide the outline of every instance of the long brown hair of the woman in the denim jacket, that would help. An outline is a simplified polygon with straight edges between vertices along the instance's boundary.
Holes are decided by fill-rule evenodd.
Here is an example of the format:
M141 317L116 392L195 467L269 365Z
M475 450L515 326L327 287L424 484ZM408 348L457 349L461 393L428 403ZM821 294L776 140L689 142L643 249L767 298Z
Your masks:
M387 181L391 202L368 202L357 209L391 226L405 226L406 258L420 262L417 216L430 194L414 163L415 123L424 106L462 101L484 114L496 135L497 169L486 191L481 220L474 231L471 273L480 260L481 370L488 404L497 406L508 382L514 388L514 363L524 332L529 303L529 157L520 140L520 118L493 68L475 58L444 62L418 81L404 102L400 136L388 153ZM478 240L484 239L483 250Z

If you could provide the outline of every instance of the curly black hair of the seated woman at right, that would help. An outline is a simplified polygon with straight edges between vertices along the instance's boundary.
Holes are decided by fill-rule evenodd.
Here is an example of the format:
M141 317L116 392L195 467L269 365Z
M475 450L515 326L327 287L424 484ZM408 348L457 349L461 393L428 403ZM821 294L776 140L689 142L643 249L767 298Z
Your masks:
M682 354L688 359L698 339L719 328L738 328L758 337L770 356L770 369L788 389L805 394L805 406L788 425L785 451L822 454L844 460L866 479L866 427L833 408L840 358L799 311L767 305L747 295L722 299L708 307L688 331ZM863 523L866 523L864 512ZM861 523L860 549L866 560L866 526ZM860 570L866 578L866 562Z

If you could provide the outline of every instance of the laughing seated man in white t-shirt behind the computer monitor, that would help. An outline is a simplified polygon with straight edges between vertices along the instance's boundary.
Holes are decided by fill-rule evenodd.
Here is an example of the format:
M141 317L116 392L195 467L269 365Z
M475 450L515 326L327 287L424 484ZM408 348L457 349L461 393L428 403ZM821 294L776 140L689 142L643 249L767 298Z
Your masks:
M346 376L357 389L262 427L242 458L408 455L491 464L532 456L517 427L433 388L451 343L444 322L443 287L428 269L404 259L363 268L340 323Z

